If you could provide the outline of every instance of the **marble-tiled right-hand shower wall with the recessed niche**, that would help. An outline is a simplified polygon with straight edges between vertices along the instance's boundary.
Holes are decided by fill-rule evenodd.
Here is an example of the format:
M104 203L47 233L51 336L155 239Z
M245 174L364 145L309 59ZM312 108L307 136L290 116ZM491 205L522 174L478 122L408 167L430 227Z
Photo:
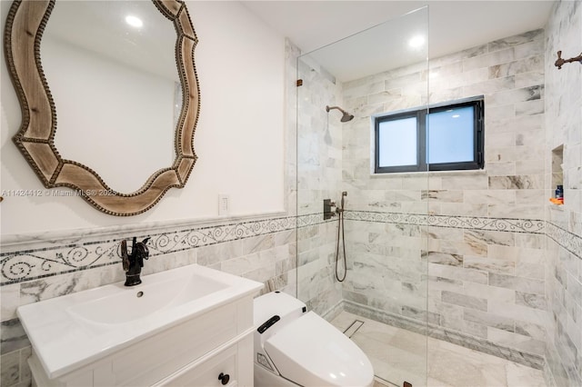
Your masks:
M582 65L557 69L557 51L582 51L582 3L562 1L546 30L547 196L564 185L564 205L547 204L546 374L582 385Z

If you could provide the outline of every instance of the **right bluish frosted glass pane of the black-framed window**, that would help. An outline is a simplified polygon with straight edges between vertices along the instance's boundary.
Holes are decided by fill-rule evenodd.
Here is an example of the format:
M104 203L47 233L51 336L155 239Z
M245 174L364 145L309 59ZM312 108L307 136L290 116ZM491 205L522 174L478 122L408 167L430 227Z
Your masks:
M474 112L473 106L463 106L428 114L428 164L473 161Z

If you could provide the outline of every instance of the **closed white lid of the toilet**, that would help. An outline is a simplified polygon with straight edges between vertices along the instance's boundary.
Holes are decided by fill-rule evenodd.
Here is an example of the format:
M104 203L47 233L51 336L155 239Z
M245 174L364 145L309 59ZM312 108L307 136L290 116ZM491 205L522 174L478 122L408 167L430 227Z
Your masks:
M303 386L366 386L374 379L366 354L316 313L305 313L265 342L286 379Z

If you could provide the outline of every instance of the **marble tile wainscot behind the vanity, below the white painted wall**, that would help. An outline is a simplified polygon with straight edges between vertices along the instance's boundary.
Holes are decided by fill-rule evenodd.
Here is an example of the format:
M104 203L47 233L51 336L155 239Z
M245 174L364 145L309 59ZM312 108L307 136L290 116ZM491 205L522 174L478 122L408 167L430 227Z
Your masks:
M299 219L301 224L309 222L308 217ZM150 258L145 263L144 275L198 263L265 283L263 292L293 292L296 226L296 217L273 217L198 225L164 224L147 231L135 230L131 235L138 239L152 238L148 242ZM16 317L16 308L123 281L125 274L119 254L123 233L113 229L94 230L74 238L45 239L45 242L22 242L16 237L3 244L0 253L2 386L24 386L31 382L26 363L31 352L30 342Z

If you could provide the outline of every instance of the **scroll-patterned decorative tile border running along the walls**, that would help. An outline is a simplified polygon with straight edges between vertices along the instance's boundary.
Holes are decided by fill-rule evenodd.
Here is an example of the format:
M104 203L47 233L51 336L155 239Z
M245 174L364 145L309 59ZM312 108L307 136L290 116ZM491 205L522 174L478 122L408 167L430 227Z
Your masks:
M540 220L369 211L346 211L345 216L346 220L360 222L404 223L509 233L547 233L570 253L582 258L580 236ZM296 217L282 216L201 227L176 227L176 230L157 233L155 229L152 233L142 230L138 238L151 237L148 246L151 256L156 256L334 221L335 219L324 221L321 213L309 213ZM0 253L0 285L119 264L120 240L121 238L106 238L86 243L55 243L54 246L28 250L21 246L17 251Z

